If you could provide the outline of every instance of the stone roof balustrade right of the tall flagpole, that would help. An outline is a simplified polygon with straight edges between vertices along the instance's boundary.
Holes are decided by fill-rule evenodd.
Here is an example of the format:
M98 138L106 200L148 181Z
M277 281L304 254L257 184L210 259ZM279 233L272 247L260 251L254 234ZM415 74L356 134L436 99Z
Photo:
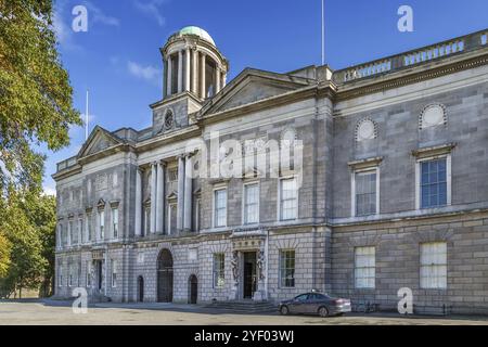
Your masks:
M333 80L336 83L347 83L369 77L389 74L450 55L474 51L486 47L487 38L488 31L486 30L474 33L418 50L337 70L333 75Z

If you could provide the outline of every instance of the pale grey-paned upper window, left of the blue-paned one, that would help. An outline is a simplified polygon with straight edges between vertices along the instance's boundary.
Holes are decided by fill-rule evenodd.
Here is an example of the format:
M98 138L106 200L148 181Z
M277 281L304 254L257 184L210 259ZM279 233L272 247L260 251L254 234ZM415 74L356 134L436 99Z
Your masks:
M376 214L376 170L355 174L356 216Z

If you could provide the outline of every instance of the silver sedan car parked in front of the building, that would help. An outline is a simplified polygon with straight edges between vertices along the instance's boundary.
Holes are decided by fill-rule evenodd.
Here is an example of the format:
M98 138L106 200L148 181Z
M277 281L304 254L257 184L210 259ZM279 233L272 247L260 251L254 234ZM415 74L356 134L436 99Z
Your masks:
M281 301L281 314L301 313L320 314L320 317L342 316L350 312L350 300L333 298L321 293L306 293L296 296L291 300Z

